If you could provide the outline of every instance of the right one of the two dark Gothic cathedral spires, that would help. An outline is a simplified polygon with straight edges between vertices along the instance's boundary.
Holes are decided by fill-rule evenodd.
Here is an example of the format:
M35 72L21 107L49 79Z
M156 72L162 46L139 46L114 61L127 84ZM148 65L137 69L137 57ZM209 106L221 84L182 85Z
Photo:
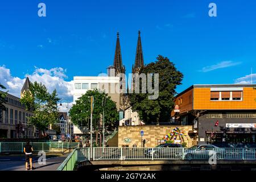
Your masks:
M143 60L143 52L142 52L142 44L141 44L141 31L139 31L133 73L138 72L139 69L141 69L142 67L144 67L144 60Z

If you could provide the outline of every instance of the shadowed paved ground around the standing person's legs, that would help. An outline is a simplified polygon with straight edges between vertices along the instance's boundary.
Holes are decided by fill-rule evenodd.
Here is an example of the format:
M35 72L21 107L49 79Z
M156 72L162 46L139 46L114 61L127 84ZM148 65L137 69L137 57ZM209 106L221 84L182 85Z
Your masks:
M33 157L32 166L35 171L56 171L67 155L48 155L46 164L38 163L38 156ZM25 171L25 157L23 156L0 156L0 171Z

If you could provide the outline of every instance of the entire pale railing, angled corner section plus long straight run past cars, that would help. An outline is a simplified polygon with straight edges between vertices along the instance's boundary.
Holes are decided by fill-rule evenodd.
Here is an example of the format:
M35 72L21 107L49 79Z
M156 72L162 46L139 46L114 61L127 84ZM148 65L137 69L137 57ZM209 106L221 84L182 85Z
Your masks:
M216 158L218 160L256 160L256 148L125 148L94 147L76 148L64 160L58 171L73 171L77 163L90 160L200 160Z

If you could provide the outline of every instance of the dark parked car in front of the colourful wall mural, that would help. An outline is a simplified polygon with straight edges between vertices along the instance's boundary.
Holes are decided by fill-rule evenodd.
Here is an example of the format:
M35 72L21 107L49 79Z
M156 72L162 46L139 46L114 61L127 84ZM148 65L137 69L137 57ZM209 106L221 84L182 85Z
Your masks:
M169 148L169 149L168 149ZM154 158L177 158L182 157L182 146L181 144L174 143L162 143L156 146L155 148L149 148L144 153L145 157L151 157L154 155Z

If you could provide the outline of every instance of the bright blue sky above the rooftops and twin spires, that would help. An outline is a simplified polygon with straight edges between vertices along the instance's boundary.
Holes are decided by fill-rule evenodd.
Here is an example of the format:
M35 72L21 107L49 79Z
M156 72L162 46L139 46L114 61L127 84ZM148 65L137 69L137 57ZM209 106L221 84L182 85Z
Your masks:
M40 2L46 17L38 16ZM210 2L217 17L208 15ZM0 81L11 90L25 75L60 77L64 84L97 76L113 64L117 31L130 73L141 30L144 62L163 55L184 73L177 92L192 84L248 82L256 70L255 10L256 1L240 0L3 1Z

